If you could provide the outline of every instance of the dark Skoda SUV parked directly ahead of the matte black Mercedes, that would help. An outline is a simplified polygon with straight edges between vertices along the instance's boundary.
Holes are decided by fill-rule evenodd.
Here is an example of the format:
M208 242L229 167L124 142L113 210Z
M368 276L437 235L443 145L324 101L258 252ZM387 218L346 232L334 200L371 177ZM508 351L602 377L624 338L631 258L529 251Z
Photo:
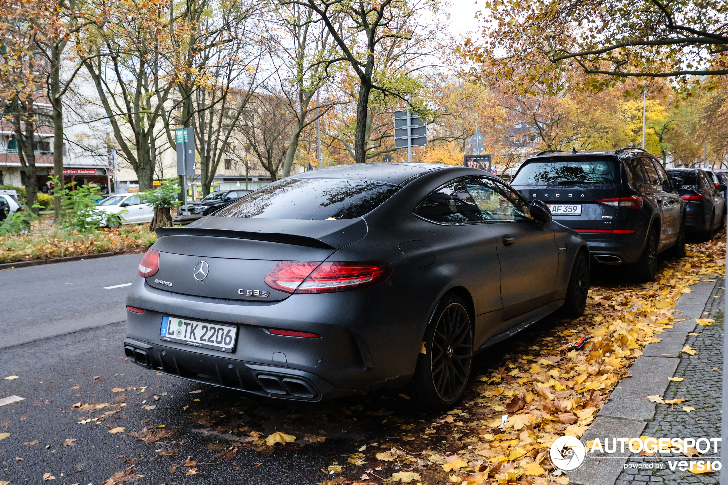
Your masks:
M685 252L685 201L660 162L641 148L542 151L511 183L544 201L553 219L579 233L604 265L633 265L638 281L657 275L657 253Z

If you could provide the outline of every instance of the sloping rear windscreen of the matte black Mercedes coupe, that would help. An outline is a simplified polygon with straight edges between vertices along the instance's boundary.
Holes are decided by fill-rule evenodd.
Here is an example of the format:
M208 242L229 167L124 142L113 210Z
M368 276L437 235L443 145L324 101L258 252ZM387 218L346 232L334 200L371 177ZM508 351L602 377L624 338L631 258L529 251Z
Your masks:
M279 180L248 193L216 217L261 219L353 219L386 201L399 190L374 180L306 178Z

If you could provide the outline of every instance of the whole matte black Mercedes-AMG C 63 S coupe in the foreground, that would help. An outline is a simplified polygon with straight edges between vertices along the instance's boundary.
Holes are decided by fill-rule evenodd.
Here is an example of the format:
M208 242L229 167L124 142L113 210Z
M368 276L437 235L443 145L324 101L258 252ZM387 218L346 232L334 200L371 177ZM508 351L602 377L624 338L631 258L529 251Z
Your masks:
M472 356L563 308L588 248L479 169L352 164L288 177L158 228L127 296L137 364L317 401L411 383L454 403Z

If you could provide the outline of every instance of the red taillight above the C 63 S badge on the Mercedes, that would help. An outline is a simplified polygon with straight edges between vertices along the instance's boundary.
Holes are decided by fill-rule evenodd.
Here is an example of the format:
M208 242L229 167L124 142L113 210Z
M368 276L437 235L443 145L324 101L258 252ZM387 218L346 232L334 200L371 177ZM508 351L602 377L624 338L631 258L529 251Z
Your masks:
M332 293L373 286L391 274L392 267L378 261L282 261L265 282L286 293Z

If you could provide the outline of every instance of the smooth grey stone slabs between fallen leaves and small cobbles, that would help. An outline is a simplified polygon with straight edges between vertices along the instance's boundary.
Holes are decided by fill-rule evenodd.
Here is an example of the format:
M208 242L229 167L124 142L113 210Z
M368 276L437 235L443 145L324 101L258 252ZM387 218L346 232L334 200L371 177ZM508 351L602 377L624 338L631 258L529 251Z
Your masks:
M643 355L636 358L630 366L630 372L634 377L622 379L617 383L617 387L609 396L609 401L602 406L593 424L582 436L582 441L586 442L595 438L640 436L643 430L649 427L648 422L655 418L657 404L648 401L646 396L663 396L668 390L668 385L671 383L668 377L673 377L681 364L679 351L687 340L689 332L695 330L697 325L695 318L703 316L703 310L711 304L713 290L719 286L721 281L724 281L720 277L712 277L715 278L715 282L704 281L708 278L711 277L703 278L700 283L690 286L692 293L681 295L674 308L674 310L678 310L675 316L688 319L676 322L672 329L666 329L667 332L660 334L662 341L645 345ZM569 476L569 483L573 485L617 484L630 454L622 456L624 454L616 453L615 455L618 456L605 458L609 456L605 453L596 462L594 460L585 461L582 467L566 473ZM629 471L638 473L639 476L639 478L630 477L630 483L635 480L662 482L662 478L659 476L652 476L652 470ZM713 483L715 480L713 477L701 478L709 478L709 483ZM622 479L620 479L621 483Z

